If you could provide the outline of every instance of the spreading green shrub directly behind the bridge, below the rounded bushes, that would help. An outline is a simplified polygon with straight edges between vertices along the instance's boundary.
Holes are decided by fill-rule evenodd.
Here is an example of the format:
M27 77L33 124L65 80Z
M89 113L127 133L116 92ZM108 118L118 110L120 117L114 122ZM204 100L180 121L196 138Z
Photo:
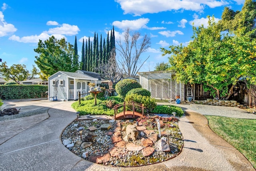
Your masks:
M125 101L134 101L136 103L144 104L144 107L146 107L148 113L152 112L152 110L156 107L156 99L138 94L126 95Z

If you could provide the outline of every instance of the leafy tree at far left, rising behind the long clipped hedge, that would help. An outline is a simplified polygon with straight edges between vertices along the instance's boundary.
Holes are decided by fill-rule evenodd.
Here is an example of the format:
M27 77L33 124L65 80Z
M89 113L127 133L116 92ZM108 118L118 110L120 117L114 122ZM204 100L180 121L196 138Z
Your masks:
M32 71L29 72L26 69L26 65L21 65L21 64L14 64L10 66L10 68L6 65L6 62L3 62L0 65L0 74L1 76L4 77L4 80L9 81L13 80L17 84L20 84L21 81L24 80L31 80L39 74L38 70L36 67L33 65Z

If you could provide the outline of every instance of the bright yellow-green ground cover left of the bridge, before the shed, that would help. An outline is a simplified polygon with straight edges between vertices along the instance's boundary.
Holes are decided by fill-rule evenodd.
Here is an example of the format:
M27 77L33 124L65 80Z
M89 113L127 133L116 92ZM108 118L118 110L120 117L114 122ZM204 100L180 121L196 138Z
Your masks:
M81 101L81 105L76 101L71 105L80 115L114 115L114 110L106 106L106 101L97 99L97 105L94 105L94 99Z

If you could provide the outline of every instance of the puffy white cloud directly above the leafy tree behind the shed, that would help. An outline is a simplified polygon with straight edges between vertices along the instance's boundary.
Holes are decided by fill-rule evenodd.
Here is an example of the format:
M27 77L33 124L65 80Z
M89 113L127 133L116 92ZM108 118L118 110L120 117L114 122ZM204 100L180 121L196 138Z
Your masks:
M63 34L67 36L73 36L78 34L79 31L80 29L78 28L78 26L75 26L75 25L71 26L70 24L62 24L60 27L50 28L48 30L48 34Z

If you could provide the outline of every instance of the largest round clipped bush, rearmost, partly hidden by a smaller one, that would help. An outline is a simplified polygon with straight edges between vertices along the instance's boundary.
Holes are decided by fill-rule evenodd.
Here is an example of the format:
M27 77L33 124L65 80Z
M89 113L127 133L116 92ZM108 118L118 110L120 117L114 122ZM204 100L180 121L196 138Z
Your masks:
M118 82L116 84L116 92L118 93L118 95L124 99L126 94L128 93L128 91L130 91L131 89L134 88L141 88L141 85L132 79L125 79L125 80L121 80L120 82Z

